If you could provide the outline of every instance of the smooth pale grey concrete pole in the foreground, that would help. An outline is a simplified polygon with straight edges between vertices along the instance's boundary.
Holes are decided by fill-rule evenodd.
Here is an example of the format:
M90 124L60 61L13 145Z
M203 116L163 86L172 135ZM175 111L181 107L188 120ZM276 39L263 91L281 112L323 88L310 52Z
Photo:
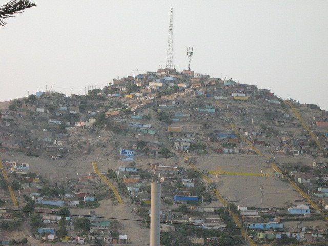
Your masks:
M152 182L150 190L150 246L160 245L160 183Z

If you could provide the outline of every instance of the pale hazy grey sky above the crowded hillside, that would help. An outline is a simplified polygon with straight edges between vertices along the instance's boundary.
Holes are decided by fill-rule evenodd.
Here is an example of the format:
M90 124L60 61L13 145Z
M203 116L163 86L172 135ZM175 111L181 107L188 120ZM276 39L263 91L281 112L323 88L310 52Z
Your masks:
M0 5L9 0L0 0ZM0 27L0 101L173 64L328 110L328 1L37 1Z

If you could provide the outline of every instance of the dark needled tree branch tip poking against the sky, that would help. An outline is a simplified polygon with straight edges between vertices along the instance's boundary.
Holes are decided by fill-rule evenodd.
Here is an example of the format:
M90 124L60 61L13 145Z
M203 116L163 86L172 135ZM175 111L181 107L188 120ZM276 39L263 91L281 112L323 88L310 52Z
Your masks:
M2 19L13 17L14 14L22 13L24 9L36 6L28 0L12 0L0 7L0 26L5 26L6 23Z

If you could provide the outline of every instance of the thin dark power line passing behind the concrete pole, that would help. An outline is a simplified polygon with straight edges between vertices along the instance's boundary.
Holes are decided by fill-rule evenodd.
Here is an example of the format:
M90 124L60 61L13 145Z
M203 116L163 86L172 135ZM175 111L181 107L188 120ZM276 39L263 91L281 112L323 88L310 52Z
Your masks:
M31 210L20 210L20 209L6 209L8 211L15 212L29 212L29 213L39 213L39 214L51 214L51 215L61 215L61 216L76 216L76 217L86 217L86 218L97 218L97 219L113 219L113 220L124 220L124 221L135 221L135 222L147 222L150 223L150 220L143 219L124 219L124 218L115 218L115 217L104 217L104 216L92 216L92 215L83 215L83 214L63 214L63 213L49 213L49 212L37 212ZM181 222L169 222L169 221L161 221L161 224L175 224L179 226L193 226L200 227L202 225L198 224L190 224L190 223L181 223ZM303 233L303 234L318 234L318 235L328 235L325 233L310 233L310 232L295 232L295 231L275 231L270 228L268 229L257 229L257 228L243 228L243 227L220 227L220 226L209 226L211 228L218 229L240 229L240 230L248 230L248 231L264 231L264 232L277 232L277 233Z

